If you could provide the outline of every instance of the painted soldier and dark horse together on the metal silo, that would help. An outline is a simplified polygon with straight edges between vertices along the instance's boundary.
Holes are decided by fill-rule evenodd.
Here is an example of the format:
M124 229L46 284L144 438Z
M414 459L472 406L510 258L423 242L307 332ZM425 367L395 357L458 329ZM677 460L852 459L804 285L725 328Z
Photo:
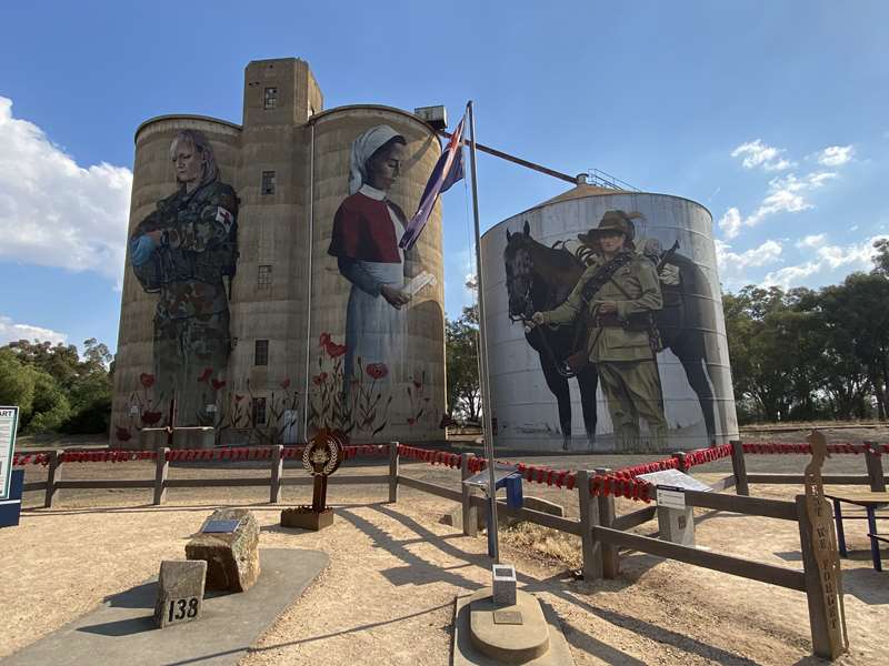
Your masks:
M701 306L711 285L678 240L665 250L659 239L640 238L637 225L643 221L640 213L606 211L589 232L553 246L535 240L527 222L518 233L507 230L509 319L525 324L526 340L539 354L556 396L563 448L572 435L571 379L578 383L590 450L599 421L597 387L617 451L667 446L668 353L696 395L707 443L717 438L719 410L707 357L716 349L708 341L716 322L711 309Z

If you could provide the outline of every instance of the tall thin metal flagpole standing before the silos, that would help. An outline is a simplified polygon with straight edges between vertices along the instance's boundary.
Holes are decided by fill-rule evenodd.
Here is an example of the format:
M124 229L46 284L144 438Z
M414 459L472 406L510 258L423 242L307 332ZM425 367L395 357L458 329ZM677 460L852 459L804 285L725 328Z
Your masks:
M469 161L472 165L472 215L476 220L476 280L479 299L479 382L481 383L481 404L485 417L482 436L485 438L485 457L488 458L488 501L490 502L490 523L488 523L488 545L495 563L500 562L500 544L497 522L497 488L495 487L493 460L493 406L491 389L488 384L488 336L485 325L485 279L481 266L481 233L479 231L479 188L476 169L476 117L472 113L472 100L467 103L469 111Z

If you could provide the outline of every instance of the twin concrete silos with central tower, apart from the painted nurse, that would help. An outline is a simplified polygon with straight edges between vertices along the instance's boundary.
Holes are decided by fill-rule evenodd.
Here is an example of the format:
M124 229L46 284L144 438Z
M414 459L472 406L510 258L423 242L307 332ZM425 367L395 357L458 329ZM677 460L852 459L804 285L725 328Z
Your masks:
M177 426L203 428L182 431L189 446L297 442L320 427L349 430L351 441L440 436L440 206L410 255L429 279L399 315L398 357L374 359L370 374L361 369L369 383L360 404L323 366L343 344L349 282L328 250L337 206L349 195L352 142L383 123L403 137L387 201L410 215L440 154L438 138L397 109L322 107L304 61L253 61L242 125L164 115L137 130L112 445L166 441L151 428L170 422L173 394ZM181 171L189 151L202 170L192 181Z

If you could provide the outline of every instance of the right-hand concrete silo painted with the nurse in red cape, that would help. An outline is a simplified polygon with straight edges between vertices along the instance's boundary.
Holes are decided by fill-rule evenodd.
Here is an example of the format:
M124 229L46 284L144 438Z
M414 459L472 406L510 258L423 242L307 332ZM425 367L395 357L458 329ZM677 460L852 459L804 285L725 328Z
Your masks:
M404 145L393 161L399 173L391 189L366 190L368 183L353 179L350 190L354 155L363 162L383 141L398 143L396 137ZM392 244L396 236L389 219L403 224L417 210L441 154L439 140L410 113L356 105L314 115L309 141L309 432L341 430L353 442L440 438L444 407L441 209L436 206L416 246L404 253L397 253ZM357 141L367 150L354 149L353 155ZM370 212L363 216L366 209ZM383 219L369 222L377 210ZM369 224L378 225L369 231ZM416 287L410 303L398 310L372 286L367 291L353 276L347 278L354 258L361 265L381 270L377 278L383 282Z

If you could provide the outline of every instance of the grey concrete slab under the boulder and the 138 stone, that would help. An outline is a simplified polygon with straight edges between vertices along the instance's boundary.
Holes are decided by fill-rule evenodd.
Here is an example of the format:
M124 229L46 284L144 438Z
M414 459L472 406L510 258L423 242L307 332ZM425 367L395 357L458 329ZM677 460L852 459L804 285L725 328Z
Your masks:
M247 649L328 565L320 551L262 548L262 573L243 593L208 593L197 622L154 625L157 578L7 657L2 666L223 666Z

